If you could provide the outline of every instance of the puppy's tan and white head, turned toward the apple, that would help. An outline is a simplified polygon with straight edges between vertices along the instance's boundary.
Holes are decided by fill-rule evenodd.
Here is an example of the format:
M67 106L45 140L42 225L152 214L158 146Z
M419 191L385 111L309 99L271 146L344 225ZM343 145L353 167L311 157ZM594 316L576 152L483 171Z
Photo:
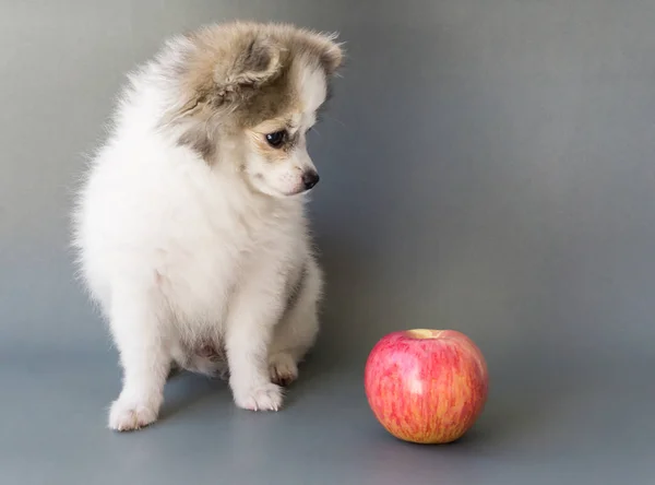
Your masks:
M290 25L233 23L171 43L175 99L167 123L209 164L236 164L273 197L311 189L306 135L342 63L327 36Z

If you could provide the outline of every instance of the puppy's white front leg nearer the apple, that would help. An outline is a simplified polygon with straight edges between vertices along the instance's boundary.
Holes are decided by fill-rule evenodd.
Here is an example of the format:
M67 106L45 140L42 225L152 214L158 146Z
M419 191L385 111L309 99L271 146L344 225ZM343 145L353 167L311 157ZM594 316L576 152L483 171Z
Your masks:
M237 406L277 411L282 388L271 382L267 356L273 328L284 310L284 279L276 268L258 270L230 301L225 333L229 386Z

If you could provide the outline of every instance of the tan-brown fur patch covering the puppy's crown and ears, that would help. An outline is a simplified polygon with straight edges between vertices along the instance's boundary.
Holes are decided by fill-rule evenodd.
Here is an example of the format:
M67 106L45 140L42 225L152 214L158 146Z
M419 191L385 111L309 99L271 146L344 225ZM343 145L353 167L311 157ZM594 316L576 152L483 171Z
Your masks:
M171 48L179 52L164 68L181 100L166 122L183 127L179 143L210 163L223 132L311 125L302 118L324 100L343 58L334 37L284 24L214 25Z

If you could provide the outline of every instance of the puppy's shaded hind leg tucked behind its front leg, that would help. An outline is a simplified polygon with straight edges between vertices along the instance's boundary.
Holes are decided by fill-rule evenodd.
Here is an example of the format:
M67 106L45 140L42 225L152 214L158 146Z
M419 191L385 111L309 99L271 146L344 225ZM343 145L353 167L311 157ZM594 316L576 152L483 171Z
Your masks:
M275 328L269 356L273 382L288 386L298 378L298 364L314 344L319 332L318 304L322 293L322 274L308 260L293 300Z

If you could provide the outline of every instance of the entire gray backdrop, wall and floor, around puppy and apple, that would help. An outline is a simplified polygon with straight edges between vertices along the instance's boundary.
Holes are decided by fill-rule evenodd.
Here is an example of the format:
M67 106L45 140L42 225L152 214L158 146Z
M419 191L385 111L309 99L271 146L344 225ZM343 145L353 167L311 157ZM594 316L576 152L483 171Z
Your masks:
M234 17L347 42L310 146L323 336L284 412L180 376L156 426L116 435L70 191L124 72ZM0 481L653 483L653 25L652 0L0 1ZM368 410L368 351L410 327L487 356L487 410L453 446Z

